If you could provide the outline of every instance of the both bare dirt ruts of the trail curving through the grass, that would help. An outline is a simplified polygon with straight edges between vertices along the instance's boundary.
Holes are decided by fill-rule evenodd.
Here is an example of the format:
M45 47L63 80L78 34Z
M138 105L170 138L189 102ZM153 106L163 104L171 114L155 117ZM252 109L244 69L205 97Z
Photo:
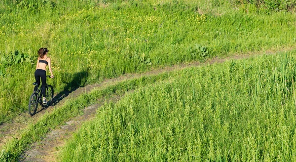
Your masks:
M122 75L118 78L106 79L106 80L102 81L101 83L95 83L95 84L91 84L91 85L86 85L84 87L79 87L72 92L70 92L70 91L64 92L63 95L54 96L55 99L53 101L53 103L54 103L53 106L50 106L45 110L39 111L35 116L30 117L30 115L28 115L28 113L25 112L25 113L21 114L19 117L16 117L12 122L6 122L6 123L3 123L2 125L0 125L0 148L2 145L4 145L11 138L17 137L17 135L20 134L20 132L22 130L24 130L28 126L29 123L36 122L45 113L50 113L51 111L53 111L54 107L62 106L64 104L65 99L74 98L82 93L90 92L94 88L105 87L105 86L115 84L119 81L136 79L136 78L140 78L142 76L153 76L153 75L158 75L161 73L168 73L168 72L182 70L182 69L190 68L190 67L199 67L199 66L205 66L208 64L222 63L222 62L225 62L225 61L231 60L231 59L232 60L246 59L246 58L255 57L258 55L262 55L262 54L270 55L270 54L276 54L278 52L291 51L293 49L294 48L291 47L291 48L285 48L285 49L281 49L281 50L266 50L266 51L260 51L260 52L256 52L256 53L251 52L251 53L245 54L245 55L232 55L232 56L228 56L225 58L216 57L216 58L208 59L207 61L205 61L203 63L190 62L190 63L184 63L184 64L179 64L179 65L167 66L167 67L163 67L163 68L151 69L150 71L148 71L146 73L125 74L125 75ZM121 97L121 96L119 96L119 97ZM97 103L97 105L92 105L89 108L85 108L85 110L84 110L85 114L89 115L89 113L86 110L91 110L90 116L93 116L95 114L97 108L101 104L102 104L102 102L99 101ZM32 149L25 152L24 156L22 157L23 160L24 161L35 161L33 159L26 160L26 157L34 157L34 156L32 156L32 155L34 155L32 153L32 151L33 152L35 151L36 155L38 155L37 157L47 157L44 159L49 159L49 161L52 161L53 158L50 158L50 157L54 157L53 153L56 152L56 150L53 150L52 147L50 147L50 142L48 142L47 140L55 141L56 143L61 144L61 143L63 143L61 141L64 141L64 139L67 139L68 137L72 136L72 133L74 132L74 130L76 130L77 127L79 127L78 125L80 125L81 122L84 122L84 121L87 121L90 119L90 117L87 117L87 118L81 117L82 119L78 119L78 118L80 118L80 117L77 117L77 119L76 118L72 119L72 121L74 121L74 122L71 122L71 121L67 122L66 125L68 124L69 126L65 126L65 125L60 126L60 128L58 128L57 130L52 130L51 132L49 132L47 134L47 136L43 139L43 141L39 142L39 145L33 144ZM63 134L67 134L67 135L63 135ZM49 146L45 145L44 143L48 143ZM41 147L42 145L44 147ZM57 145L58 144L53 145L53 146L57 146ZM46 152L45 150L48 150L48 152ZM44 152L44 154L42 154L42 152ZM40 155L39 155L39 153L40 153ZM40 162L45 161L44 159L43 160L42 159L40 160ZM39 160L37 160L37 162L39 162Z

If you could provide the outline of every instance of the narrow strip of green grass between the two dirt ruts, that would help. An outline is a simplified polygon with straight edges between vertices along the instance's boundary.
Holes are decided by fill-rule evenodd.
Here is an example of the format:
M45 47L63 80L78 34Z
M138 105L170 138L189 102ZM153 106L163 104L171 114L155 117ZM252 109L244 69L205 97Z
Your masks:
M156 81L164 81L168 77L168 74L164 73L156 76L115 82L106 87L94 89L89 93L80 94L76 98L67 99L63 106L54 109L51 113L43 115L37 122L30 124L19 134L15 134L10 141L5 143L5 145L0 148L0 162L15 162L20 160L22 153L29 149L32 143L42 140L46 133L56 128L58 125L69 121L73 117L82 115L83 112L81 110L98 102L98 99L107 99L112 94L123 95L139 86L152 84Z

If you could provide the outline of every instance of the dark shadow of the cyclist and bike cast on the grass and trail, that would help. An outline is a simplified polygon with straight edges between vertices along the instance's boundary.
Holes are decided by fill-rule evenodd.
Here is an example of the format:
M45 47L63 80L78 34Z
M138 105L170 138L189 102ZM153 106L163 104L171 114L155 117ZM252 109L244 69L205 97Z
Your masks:
M70 93L72 93L79 87L84 86L85 83L87 82L89 73L85 69L81 72L74 73L74 74L64 73L62 74L62 76L65 76L65 78L67 77L71 78L71 81L66 81L66 80L62 81L63 83L66 83L66 86L64 87L63 91L59 92L57 95L53 97L51 104L48 107L57 105L60 101L66 98ZM36 114L47 109L48 107L42 107L42 109L37 111Z

